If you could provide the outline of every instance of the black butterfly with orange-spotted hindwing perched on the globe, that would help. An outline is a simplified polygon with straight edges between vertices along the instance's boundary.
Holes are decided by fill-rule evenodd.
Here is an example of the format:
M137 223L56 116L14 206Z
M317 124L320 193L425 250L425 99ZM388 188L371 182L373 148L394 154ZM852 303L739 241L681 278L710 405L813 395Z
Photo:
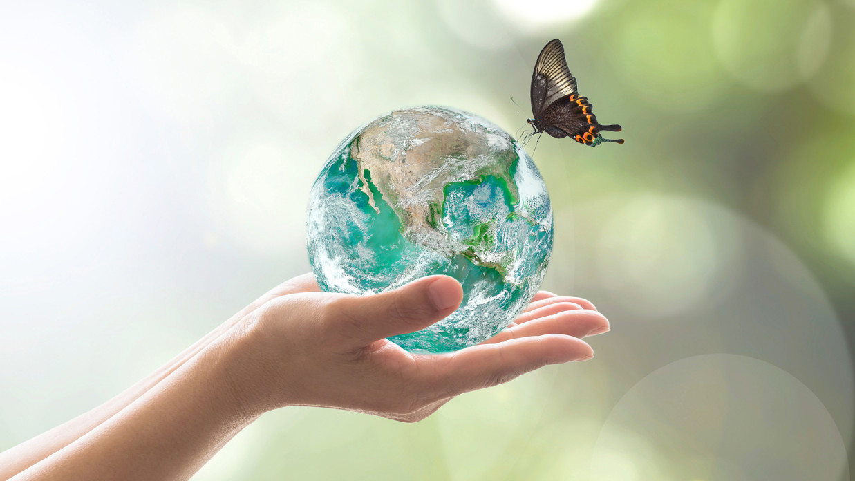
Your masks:
M599 131L621 132L621 126L601 126L591 112L587 97L580 97L576 79L567 67L564 47L557 38L540 50L532 74L532 113L528 123L535 133L554 138L572 137L580 144L596 147L604 142L623 144L622 138L603 138ZM528 137L526 140L528 140Z

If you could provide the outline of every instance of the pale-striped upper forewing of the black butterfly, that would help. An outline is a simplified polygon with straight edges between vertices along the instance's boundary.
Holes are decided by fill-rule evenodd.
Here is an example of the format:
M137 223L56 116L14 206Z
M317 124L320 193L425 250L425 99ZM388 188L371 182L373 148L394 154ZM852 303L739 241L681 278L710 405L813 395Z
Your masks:
M532 74L532 113L540 120L545 108L561 97L576 93L576 79L567 67L564 46L557 38L540 50Z

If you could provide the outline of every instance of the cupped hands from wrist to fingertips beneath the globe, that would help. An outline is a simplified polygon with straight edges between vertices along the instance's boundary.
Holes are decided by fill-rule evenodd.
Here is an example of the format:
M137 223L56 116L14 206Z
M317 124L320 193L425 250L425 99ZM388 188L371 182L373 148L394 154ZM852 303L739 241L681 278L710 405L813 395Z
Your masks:
M239 320L230 382L250 415L299 405L412 422L463 392L590 359L581 337L609 330L590 302L540 292L478 346L415 355L386 340L444 319L462 299L460 284L446 276L373 296L321 293L310 274L292 279Z

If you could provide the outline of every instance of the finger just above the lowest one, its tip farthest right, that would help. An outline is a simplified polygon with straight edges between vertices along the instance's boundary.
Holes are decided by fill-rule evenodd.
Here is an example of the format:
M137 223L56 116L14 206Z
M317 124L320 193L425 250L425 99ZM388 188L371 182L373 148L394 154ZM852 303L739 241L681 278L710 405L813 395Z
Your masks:
M503 343L518 337L563 334L565 336L596 336L609 331L609 320L597 311L572 310L541 317L525 324L510 327L487 339L485 344Z

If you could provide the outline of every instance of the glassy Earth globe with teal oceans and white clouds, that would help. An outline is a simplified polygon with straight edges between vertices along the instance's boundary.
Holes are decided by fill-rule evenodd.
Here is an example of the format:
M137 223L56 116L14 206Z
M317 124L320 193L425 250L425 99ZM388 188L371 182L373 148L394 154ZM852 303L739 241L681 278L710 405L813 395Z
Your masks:
M417 107L339 144L312 187L306 231L321 290L368 295L432 274L457 279L457 311L389 337L442 353L481 343L526 308L552 252L552 208L507 132L461 110Z

